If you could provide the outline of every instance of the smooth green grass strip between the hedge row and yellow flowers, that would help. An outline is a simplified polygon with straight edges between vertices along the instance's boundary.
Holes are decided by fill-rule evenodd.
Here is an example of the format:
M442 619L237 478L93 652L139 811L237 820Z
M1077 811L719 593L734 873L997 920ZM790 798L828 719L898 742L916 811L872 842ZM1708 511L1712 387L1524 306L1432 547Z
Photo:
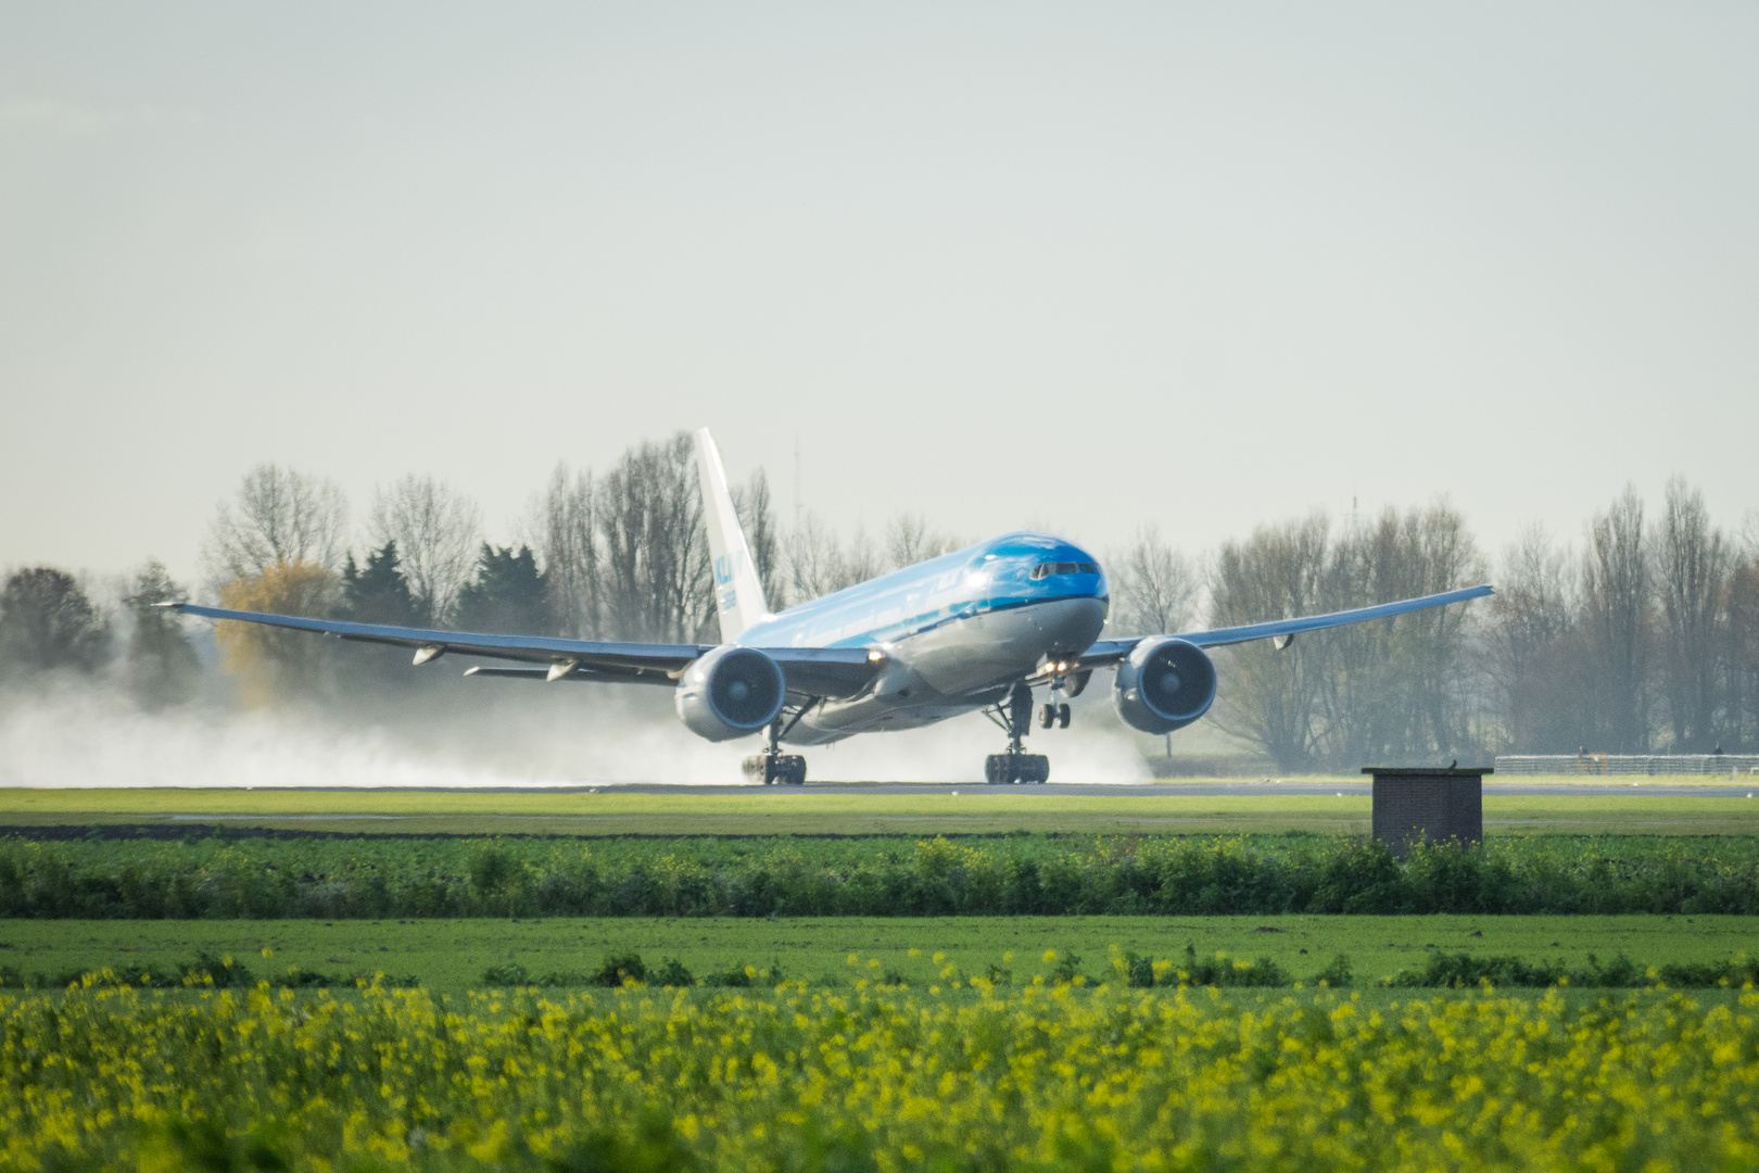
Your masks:
M1177 960L1268 957L1296 980L1347 953L1358 983L1421 967L1428 950L1520 955L1581 964L1618 953L1639 964L1719 962L1759 951L1752 916L1013 916L1013 918L781 918L781 920L412 920L412 922L0 922L0 965L26 978L104 965L174 965L197 953L232 955L257 976L287 965L336 976L413 976L436 992L482 987L491 965L519 964L533 978L596 969L610 953L649 964L675 957L693 973L779 964L785 976L850 985L897 973L911 985L989 965L1015 981L1048 974L1045 950L1082 957L1101 976L1110 946ZM273 951L271 958L262 950ZM911 950L918 953L913 957ZM857 964L848 957L855 955ZM946 958L936 964L936 953ZM1011 955L1011 957L1010 957ZM878 960L878 965L871 962Z

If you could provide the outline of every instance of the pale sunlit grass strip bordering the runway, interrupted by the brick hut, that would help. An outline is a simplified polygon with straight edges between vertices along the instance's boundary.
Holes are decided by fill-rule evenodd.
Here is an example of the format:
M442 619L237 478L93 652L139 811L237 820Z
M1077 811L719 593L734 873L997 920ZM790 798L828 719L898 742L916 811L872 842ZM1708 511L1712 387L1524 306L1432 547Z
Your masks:
M728 788L725 795L14 788L0 790L0 827L223 820L229 827L415 835L1369 834L1367 797L1282 795L1274 786L1265 786L1263 795L1203 797L1180 788L1182 783L1145 786L1140 797L983 786L960 788L957 797L927 790L862 795L811 788ZM1485 834L1755 835L1759 798L1747 793L1724 783L1715 797L1646 795L1641 786L1629 797L1530 797L1499 795L1488 784Z

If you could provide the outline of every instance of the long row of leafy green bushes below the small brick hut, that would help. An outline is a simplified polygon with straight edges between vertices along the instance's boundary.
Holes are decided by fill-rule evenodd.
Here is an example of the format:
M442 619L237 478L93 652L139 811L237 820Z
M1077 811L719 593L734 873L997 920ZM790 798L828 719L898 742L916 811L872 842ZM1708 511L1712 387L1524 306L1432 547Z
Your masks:
M1759 914L1748 839L0 839L0 918Z

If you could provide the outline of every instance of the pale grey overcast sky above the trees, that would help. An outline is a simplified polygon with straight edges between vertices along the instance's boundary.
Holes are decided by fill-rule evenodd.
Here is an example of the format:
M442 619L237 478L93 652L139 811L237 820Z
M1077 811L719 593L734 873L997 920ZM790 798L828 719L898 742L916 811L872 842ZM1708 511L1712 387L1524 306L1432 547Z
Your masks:
M707 424L786 517L1759 506L1759 7L0 9L0 565Z

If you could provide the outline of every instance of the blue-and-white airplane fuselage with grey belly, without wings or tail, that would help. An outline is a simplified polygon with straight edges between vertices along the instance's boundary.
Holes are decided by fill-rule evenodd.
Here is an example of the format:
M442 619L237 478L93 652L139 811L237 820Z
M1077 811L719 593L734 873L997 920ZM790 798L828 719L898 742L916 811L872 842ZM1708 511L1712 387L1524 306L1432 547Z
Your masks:
M1105 626L1105 572L1047 533L1008 533L792 607L741 633L746 647L869 647L887 667L857 696L814 705L792 744L932 725L992 705Z

